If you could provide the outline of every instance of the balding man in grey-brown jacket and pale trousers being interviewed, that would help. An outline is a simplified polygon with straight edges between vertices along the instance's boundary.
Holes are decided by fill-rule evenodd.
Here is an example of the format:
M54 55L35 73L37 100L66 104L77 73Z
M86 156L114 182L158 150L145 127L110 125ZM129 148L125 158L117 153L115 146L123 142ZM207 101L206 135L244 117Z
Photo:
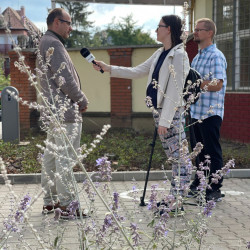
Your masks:
M42 187L45 190L43 212L49 213L54 208L60 208L67 217L67 207L76 198L72 174L75 162L74 154L65 142L62 129L55 123L55 119L60 122L77 150L80 147L82 130L81 113L86 111L88 100L81 91L79 76L64 47L65 39L72 31L70 15L61 8L53 9L47 17L47 25L48 30L39 44L39 68L46 72L46 76L41 78L42 93L55 118L48 109L41 114L47 132L42 167ZM50 59L46 68L44 65L48 58ZM60 155L57 154L59 150ZM79 214L77 209L76 215Z

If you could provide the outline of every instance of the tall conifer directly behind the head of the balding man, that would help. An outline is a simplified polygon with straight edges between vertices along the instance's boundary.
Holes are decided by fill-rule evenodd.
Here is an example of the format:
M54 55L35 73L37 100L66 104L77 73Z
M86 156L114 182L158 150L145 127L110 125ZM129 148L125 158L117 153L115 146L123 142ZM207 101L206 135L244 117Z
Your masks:
M88 16L92 12L87 11L88 4L85 2L64 2L61 7L65 8L71 16L73 31L66 41L66 47L77 48L85 47L91 43L89 29L93 22L88 21Z

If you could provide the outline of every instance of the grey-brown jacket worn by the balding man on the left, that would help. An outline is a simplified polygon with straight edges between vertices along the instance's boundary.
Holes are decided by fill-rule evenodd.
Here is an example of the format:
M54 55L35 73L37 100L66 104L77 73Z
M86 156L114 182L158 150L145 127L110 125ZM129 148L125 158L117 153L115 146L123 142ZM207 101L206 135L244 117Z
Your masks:
M88 99L81 90L80 79L64 45L53 32L47 31L41 38L39 44L43 62L46 61L46 53L50 47L54 48L54 54L51 57L50 66L47 71L47 78L50 79L50 88L48 87L47 79L43 77L41 79L42 92L48 99L49 103L52 103L52 97L50 93L52 93L53 98L55 98L56 95L59 95L59 100L63 103L65 102L66 98L69 98L70 105L67 107L67 111L64 114L64 121L75 122L76 117L78 115L81 117L81 114L80 112L78 112L78 114L76 113L73 104L77 103L79 110L82 110L87 107ZM65 69L63 69L55 79L52 78L52 76L60 68L62 62L66 63ZM39 65L39 68L42 70L42 65ZM60 92L58 93L57 88L59 87L59 76L64 77L65 83L60 87ZM56 101L55 105L59 110L61 104Z

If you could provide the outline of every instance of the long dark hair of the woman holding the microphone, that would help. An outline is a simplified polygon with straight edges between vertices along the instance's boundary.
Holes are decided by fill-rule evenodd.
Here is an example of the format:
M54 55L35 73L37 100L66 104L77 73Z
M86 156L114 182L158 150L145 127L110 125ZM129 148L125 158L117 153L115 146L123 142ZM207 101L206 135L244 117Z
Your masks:
M162 17L163 22L170 26L172 47L182 43L182 22L181 18L177 15L167 15Z

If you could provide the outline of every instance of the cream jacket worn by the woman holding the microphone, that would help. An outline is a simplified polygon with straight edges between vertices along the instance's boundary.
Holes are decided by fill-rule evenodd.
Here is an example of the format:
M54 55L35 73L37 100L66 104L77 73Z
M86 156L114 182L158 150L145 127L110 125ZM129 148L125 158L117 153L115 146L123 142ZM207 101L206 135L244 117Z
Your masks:
M148 87L163 49L163 47L159 48L150 58L136 67L111 66L111 77L133 79L148 75ZM174 66L175 76L170 73L169 66L171 64ZM183 44L178 44L170 50L159 72L157 108L162 108L160 126L169 128L176 108L185 104L182 92L189 69L187 53L183 48Z

